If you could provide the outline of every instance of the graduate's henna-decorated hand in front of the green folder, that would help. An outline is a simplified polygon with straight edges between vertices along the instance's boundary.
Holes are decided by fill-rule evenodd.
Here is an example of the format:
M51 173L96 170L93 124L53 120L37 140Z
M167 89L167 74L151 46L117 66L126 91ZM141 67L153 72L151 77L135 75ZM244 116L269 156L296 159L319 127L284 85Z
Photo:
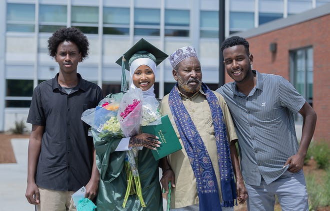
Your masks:
M146 147L155 150L156 147L159 147L158 144L161 144L161 142L158 141L157 136L148 133L141 133L130 137L128 147Z

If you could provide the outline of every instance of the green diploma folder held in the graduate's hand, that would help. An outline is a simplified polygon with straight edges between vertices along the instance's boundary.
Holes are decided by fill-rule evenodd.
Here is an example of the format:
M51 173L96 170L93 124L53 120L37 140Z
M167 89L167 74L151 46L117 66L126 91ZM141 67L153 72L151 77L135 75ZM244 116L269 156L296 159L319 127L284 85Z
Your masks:
M143 133L157 136L161 142L160 147L157 147L156 150L151 150L155 160L182 149L167 115L161 117L161 124L142 126L141 130Z

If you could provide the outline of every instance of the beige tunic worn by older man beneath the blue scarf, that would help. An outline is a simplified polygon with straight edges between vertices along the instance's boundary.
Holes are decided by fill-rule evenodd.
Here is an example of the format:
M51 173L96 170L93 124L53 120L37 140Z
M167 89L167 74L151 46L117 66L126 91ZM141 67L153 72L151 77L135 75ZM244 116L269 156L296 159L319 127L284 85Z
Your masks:
M227 104L219 93L214 91L213 93L220 102L225 125L227 128L228 140L235 140L237 139L237 136ZM213 121L205 94L202 90L199 90L199 92L197 92L190 98L187 98L182 93L180 93L180 95L182 97L183 105L188 111L192 122L196 126L196 129L201 139L203 140L206 150L210 156L212 166L216 175L217 185L219 188L219 198L220 201L222 201L220 196L220 174L217 162L217 150L214 136ZM173 188L171 192L172 194L170 207L171 209L174 209L198 204L199 202L197 195L196 178L193 174L188 156L185 152L182 140L180 139L172 113L168 106L168 95L164 96L161 100L160 113L162 115L168 115L182 146L182 150L179 150L168 156L168 162L175 174L175 188Z

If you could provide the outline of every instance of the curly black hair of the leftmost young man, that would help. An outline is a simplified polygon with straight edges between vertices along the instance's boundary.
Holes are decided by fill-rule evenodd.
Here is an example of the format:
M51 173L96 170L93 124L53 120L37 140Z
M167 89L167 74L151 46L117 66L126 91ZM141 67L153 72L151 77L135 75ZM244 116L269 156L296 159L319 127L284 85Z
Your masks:
M88 56L89 42L87 37L75 27L60 28L56 30L48 39L48 53L51 57L56 56L57 47L61 42L74 42L81 52L81 61Z

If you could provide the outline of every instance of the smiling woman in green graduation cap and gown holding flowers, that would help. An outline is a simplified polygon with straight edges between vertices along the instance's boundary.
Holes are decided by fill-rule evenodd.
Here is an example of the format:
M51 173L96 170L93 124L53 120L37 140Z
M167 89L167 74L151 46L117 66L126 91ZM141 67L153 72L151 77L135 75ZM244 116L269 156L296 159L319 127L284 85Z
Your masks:
M129 90L140 88L143 99L155 98L153 84L156 65L167 56L144 39L140 39L116 63L124 66L130 73L132 83ZM125 77L123 80L125 81ZM122 93L113 94L110 97L115 98L120 94ZM96 199L97 211L162 211L158 161L153 158L151 153L151 150L160 144L157 137L141 133L125 138L99 138L94 131L92 133L96 151L96 166L100 172ZM135 194L129 195L125 208L122 207L127 189L124 160L126 151L132 147L142 148L138 150L137 170L145 203L144 208Z

